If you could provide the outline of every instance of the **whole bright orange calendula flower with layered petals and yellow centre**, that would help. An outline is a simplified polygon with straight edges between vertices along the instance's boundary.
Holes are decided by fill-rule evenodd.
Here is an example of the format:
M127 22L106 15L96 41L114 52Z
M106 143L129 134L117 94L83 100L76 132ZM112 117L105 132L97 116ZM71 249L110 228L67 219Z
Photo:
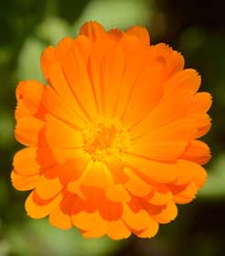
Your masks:
M28 63L27 63L28 64ZM206 181L208 93L198 72L145 28L85 23L41 56L47 86L16 89L12 183L27 215L84 237L155 236Z

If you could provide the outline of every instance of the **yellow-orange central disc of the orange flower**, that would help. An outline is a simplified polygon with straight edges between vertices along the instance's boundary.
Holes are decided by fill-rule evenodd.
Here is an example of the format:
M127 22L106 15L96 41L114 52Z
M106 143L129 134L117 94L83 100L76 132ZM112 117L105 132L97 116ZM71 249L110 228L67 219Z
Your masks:
M100 118L97 125L82 131L84 150L91 154L93 161L107 161L116 154L122 157L130 146L129 134L117 119Z

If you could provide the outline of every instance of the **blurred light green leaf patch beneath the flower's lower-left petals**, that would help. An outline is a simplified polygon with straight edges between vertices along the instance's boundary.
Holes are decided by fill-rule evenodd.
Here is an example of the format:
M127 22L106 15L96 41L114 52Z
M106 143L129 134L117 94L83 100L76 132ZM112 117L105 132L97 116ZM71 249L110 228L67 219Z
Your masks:
M18 236L18 230L20 234ZM60 230L49 227L48 220L31 221L19 227L10 227L6 231L4 246L16 255L74 255L93 256L105 255L115 248L116 242L110 239L80 239L74 229ZM1 248L1 246L0 246ZM0 250L1 251L1 250Z

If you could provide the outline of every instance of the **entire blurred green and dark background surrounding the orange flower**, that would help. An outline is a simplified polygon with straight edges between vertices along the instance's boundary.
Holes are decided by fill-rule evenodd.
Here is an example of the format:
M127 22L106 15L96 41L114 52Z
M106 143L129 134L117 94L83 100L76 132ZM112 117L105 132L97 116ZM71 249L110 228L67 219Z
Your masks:
M209 4L210 3L210 4ZM7 0L0 1L0 256L28 255L223 255L225 237L225 43L222 1L166 0ZM75 228L62 231L48 220L26 216L19 193L10 184L14 139L15 88L19 80L44 83L42 50L65 36L75 37L86 20L105 28L144 25L152 41L165 41L201 73L201 90L213 96L213 126L204 138L213 158L209 180L198 199L180 206L177 221L162 226L155 239L82 239ZM171 234L173 234L171 236ZM223 239L222 239L223 238ZM188 250L187 250L188 249Z

